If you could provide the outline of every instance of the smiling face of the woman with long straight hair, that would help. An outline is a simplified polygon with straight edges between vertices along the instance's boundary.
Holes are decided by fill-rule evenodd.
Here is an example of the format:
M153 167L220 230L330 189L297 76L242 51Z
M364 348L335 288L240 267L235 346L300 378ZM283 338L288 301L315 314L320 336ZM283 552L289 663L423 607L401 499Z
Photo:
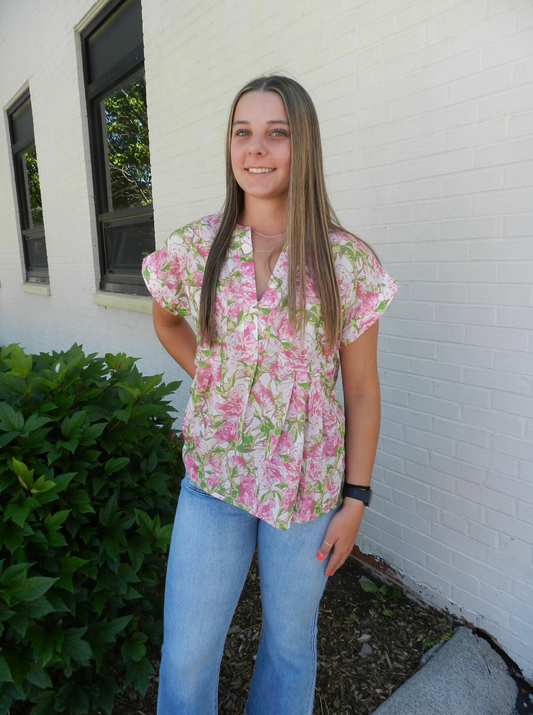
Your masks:
M247 92L238 101L231 131L231 166L245 194L286 198L291 171L291 135L277 92Z

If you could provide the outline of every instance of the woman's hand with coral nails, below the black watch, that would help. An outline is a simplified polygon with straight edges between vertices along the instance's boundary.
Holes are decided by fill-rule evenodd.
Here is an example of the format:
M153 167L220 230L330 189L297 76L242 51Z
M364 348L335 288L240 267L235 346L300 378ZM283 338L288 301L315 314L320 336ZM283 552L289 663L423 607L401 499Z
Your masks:
M342 508L329 522L325 539L317 555L318 560L322 561L331 552L326 568L327 576L333 576L351 554L364 513L365 505L362 501L346 498Z

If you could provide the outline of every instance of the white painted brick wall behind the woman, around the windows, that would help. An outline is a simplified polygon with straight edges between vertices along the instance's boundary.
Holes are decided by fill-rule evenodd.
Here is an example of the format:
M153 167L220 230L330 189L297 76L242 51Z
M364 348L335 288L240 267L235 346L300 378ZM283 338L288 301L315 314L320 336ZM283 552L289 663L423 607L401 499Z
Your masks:
M101 4L101 3L99 3ZM91 0L0 3L0 102L29 82L51 296L20 290L0 139L0 344L74 341L190 380L98 284L76 26ZM236 20L238 18L238 21ZM287 71L321 119L341 220L401 290L381 324L383 425L359 545L533 675L533 14L528 0L143 0L156 242L219 209L235 91Z

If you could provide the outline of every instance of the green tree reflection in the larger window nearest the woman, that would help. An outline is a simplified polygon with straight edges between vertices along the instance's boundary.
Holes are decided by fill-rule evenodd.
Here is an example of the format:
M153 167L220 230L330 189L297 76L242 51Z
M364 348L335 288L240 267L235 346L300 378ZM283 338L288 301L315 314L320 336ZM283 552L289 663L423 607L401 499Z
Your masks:
M129 80L102 101L107 131L108 210L152 203L146 82Z

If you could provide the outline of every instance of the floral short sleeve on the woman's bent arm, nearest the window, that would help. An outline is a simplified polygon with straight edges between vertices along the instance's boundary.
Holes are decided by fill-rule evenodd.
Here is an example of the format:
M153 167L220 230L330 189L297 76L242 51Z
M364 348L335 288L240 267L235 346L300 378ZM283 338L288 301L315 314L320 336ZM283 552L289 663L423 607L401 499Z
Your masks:
M187 247L179 234L172 234L142 263L142 276L150 295L173 315L190 314L186 292L187 263Z

